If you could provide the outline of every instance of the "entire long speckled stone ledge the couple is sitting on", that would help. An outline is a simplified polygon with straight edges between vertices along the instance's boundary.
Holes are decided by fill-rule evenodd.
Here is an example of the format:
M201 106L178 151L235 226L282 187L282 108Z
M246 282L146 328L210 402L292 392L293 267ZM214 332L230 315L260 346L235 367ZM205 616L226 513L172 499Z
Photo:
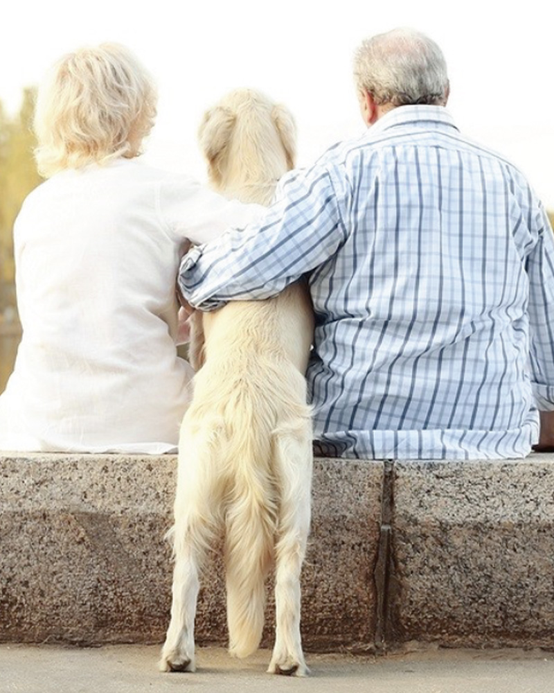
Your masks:
M161 641L175 471L174 455L0 456L0 640ZM316 459L313 498L306 649L553 646L554 455ZM202 585L198 640L224 643L217 559Z

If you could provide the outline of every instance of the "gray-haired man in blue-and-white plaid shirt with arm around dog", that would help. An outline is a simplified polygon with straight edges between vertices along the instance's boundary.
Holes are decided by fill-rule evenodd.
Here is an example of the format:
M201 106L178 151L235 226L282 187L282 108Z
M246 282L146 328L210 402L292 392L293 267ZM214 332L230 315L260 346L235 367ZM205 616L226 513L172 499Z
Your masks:
M181 290L209 310L307 274L316 453L523 457L539 410L554 410L544 209L519 170L460 134L425 35L367 40L355 78L364 136L287 175L260 224L191 252Z

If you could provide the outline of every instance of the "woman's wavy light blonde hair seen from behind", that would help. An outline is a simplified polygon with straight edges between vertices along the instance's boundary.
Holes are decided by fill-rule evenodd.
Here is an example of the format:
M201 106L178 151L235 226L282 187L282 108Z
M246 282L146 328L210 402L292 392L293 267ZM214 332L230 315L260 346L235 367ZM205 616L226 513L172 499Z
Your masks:
M152 77L124 46L106 43L64 55L37 93L39 173L136 157L156 104Z

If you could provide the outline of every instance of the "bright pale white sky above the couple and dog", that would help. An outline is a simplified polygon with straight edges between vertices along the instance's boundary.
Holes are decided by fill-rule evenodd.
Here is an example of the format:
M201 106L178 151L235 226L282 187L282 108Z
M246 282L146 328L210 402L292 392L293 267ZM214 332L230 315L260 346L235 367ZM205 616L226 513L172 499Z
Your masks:
M0 100L15 111L21 89L60 55L115 41L159 85L145 154L153 164L204 179L196 144L204 110L230 89L256 87L294 114L298 166L307 166L363 131L352 52L397 26L438 42L458 127L511 159L554 211L554 21L544 0L517 9L491 0L19 0L2 10Z

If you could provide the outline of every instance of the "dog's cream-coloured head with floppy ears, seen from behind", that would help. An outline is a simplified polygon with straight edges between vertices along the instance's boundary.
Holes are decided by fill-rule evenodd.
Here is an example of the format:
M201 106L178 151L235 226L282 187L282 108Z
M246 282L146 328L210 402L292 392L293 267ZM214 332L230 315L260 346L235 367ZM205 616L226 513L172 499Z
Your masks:
M289 111L259 91L235 89L209 109L199 143L213 185L225 190L278 179L294 168L296 127Z

